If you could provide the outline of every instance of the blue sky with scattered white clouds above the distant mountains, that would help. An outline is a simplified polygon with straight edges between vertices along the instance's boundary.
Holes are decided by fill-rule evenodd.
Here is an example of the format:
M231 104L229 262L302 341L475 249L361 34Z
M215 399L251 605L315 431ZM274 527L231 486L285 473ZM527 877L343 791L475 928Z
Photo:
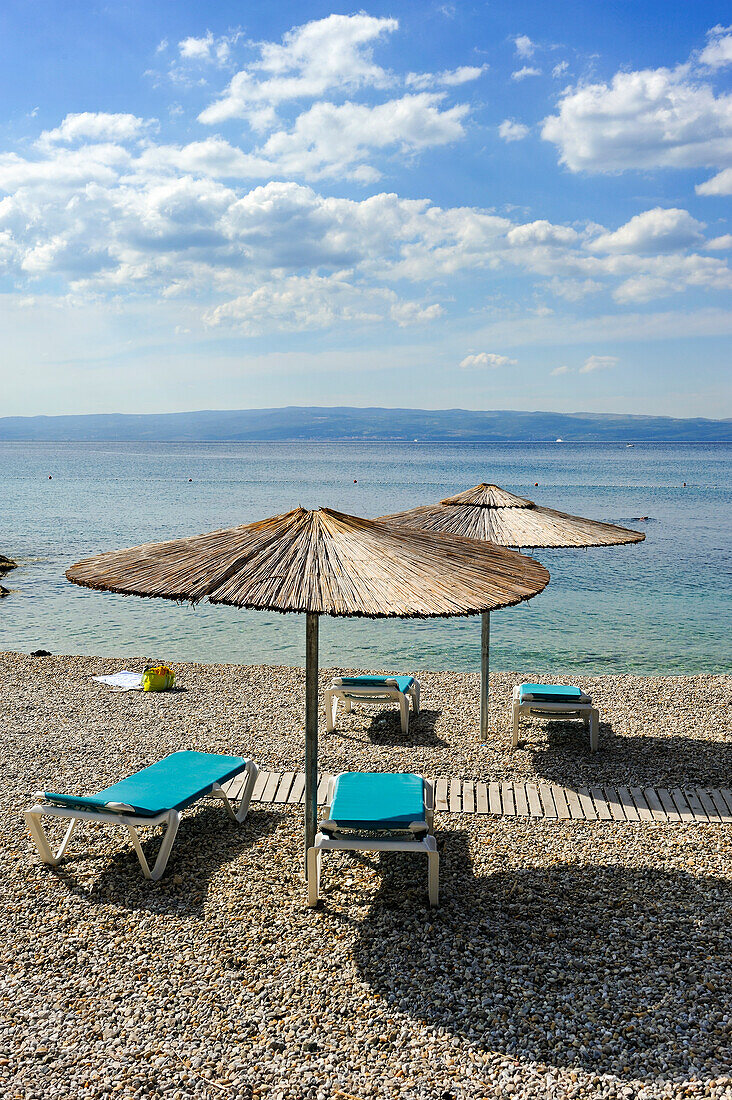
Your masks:
M706 0L0 10L0 416L730 416Z

